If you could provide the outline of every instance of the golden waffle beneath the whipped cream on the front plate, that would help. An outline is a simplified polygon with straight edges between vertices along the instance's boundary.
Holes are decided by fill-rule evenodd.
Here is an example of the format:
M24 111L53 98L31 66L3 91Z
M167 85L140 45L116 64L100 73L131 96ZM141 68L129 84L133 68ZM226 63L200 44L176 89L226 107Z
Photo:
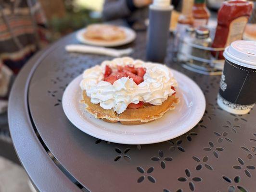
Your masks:
M175 108L174 104L179 103L179 98L174 95L169 96L162 105L147 105L142 108L127 108L123 113L117 114L113 109L103 109L100 104L90 102L90 97L86 91L82 92L81 103L85 104L86 111L97 119L115 123L120 121L123 125L139 125L161 118L168 110Z

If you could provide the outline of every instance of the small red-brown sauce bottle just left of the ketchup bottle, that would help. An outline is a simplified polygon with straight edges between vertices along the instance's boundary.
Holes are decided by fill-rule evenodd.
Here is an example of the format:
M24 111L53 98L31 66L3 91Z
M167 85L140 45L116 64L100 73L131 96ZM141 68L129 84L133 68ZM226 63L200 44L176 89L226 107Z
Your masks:
M205 0L195 0L193 6L193 25L195 28L208 24L210 12L206 7Z

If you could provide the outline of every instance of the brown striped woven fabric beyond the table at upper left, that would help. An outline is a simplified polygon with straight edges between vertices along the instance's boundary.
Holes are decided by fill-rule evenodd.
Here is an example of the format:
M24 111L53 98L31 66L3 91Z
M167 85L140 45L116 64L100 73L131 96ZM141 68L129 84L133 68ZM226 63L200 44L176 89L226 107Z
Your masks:
M46 18L37 0L0 0L0 112L11 77L46 40Z

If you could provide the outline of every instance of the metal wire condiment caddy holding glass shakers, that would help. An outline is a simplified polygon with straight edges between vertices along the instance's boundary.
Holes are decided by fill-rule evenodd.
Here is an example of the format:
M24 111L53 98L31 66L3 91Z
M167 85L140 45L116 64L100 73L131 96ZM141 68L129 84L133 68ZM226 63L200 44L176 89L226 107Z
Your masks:
M218 60L218 55L225 48L211 48L212 40L209 29L192 27L186 29L186 35L179 38L177 61L193 72L206 75L220 75L224 66L224 60ZM215 53L215 57L212 53Z

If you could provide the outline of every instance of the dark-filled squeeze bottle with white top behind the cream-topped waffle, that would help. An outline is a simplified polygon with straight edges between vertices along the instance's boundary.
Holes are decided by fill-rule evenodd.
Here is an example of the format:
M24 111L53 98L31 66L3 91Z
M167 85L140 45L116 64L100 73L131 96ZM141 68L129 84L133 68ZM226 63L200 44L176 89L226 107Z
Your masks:
M164 62L172 10L170 0L154 0L150 5L146 60Z

